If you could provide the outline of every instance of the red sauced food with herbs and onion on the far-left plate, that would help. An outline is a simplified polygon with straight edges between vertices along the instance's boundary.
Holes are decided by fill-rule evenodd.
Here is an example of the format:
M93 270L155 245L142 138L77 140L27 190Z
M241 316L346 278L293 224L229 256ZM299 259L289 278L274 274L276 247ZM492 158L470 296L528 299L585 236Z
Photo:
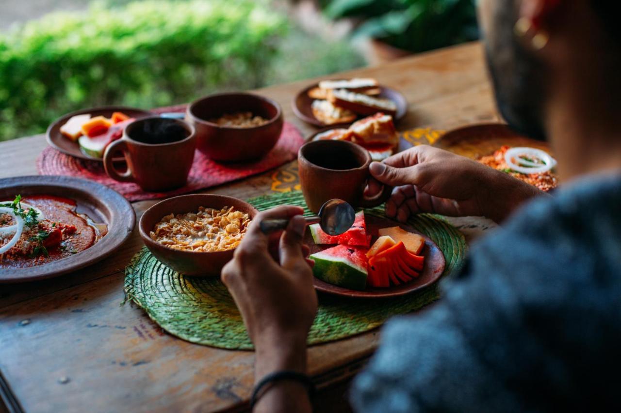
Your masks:
M76 211L76 202L49 195L0 201L0 269L25 268L69 257L107 233Z

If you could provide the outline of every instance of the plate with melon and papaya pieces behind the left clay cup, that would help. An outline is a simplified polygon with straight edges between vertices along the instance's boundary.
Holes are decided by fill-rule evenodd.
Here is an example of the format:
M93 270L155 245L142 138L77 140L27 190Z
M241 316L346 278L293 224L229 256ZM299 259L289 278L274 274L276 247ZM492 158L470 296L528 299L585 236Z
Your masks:
M122 106L83 109L56 120L45 135L47 143L62 153L102 162L106 147L120 139L129 123L150 115L147 110Z

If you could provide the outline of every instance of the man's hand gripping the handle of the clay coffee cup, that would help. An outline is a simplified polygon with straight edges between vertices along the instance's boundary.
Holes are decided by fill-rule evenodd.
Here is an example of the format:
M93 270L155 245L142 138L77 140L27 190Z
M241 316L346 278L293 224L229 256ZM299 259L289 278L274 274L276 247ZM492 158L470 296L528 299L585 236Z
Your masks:
M520 203L543 192L479 162L432 146L415 146L370 167L374 179L366 195L381 184L395 187L386 215L406 221L413 213L487 216L501 222Z

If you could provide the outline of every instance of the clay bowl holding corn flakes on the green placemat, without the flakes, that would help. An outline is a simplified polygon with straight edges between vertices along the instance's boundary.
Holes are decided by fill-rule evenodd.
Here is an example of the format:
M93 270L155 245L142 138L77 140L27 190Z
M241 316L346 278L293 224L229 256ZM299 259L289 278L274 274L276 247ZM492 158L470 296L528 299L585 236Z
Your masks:
M168 198L156 203L145 211L138 224L140 236L149 251L171 269L183 275L219 276L222 267L233 258L233 249L218 252L179 251L158 244L149 236L149 232L155 227L156 223L160 222L163 216L170 213L176 215L196 212L199 207L235 207L238 211L250 214L251 219L255 218L255 215L258 213L249 203L233 197L211 194L181 195L180 197Z

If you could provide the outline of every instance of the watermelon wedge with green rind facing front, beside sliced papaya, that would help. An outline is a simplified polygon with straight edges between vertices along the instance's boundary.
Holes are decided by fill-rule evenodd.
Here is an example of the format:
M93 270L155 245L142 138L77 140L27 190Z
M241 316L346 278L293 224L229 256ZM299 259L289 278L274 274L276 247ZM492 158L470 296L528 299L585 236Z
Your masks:
M313 274L327 283L364 290L366 287L366 248L338 245L311 255Z

